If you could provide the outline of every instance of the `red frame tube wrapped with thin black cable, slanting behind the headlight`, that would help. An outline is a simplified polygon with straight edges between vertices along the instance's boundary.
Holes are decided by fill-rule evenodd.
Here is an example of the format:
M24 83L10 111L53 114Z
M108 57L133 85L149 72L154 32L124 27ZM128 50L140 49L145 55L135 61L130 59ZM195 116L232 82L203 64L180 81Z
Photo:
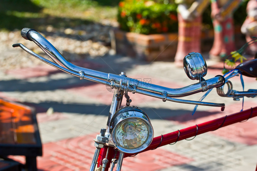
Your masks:
M254 107L254 108L251 108L248 110L244 110L242 112L234 113L231 115L226 115L222 118L207 121L202 124L188 127L188 128L178 130L178 131L175 131L172 133L161 135L161 136L155 137L153 139L152 143L150 144L150 146L147 147L146 150L143 150L141 152L153 150L153 149L156 149L157 147L175 143L177 141L180 141L180 140L183 140L186 138L195 137L196 135L199 135L202 133L214 131L221 127L225 127L227 125L231 125L236 122L248 120L249 118L253 118L255 116L257 116L257 107ZM139 152L139 153L141 153L141 152ZM129 157L132 155L135 155L135 154L125 153L124 157Z

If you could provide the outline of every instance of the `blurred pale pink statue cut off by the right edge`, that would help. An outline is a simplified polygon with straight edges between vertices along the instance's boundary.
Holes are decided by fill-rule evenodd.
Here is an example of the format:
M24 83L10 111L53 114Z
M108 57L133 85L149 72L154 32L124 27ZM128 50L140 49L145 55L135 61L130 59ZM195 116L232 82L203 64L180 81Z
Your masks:
M241 32L245 34L246 42L252 40L251 37L257 37L257 1L250 0L246 7L247 17L241 27ZM251 42L253 43L253 42ZM248 46L248 53L255 55L257 52L257 42Z

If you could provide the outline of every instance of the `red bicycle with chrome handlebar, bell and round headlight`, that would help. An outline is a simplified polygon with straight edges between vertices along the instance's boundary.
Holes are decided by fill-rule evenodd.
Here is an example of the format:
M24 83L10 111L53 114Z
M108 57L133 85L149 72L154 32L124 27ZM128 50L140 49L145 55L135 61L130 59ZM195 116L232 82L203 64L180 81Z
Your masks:
M220 127L224 127L238 121L244 121L257 115L257 107L255 107L240 113L209 121L208 123L198 124L193 127L153 138L153 128L151 126L149 117L138 107L129 106L131 99L128 92L140 93L143 95L160 98L162 101L221 107L221 110L224 110L225 104L222 103L182 100L177 99L176 97L184 97L199 92L205 92L213 88L218 88L219 95L238 99L244 96L255 97L257 95L257 90L251 89L246 92L233 91L232 83L227 80L229 78L225 79L223 76L216 76L214 78L205 80L203 77L207 73L207 66L200 53L190 53L184 58L184 68L187 76L190 79L199 80L199 83L178 89L171 89L129 78L123 72L120 75L115 75L75 66L69 63L55 49L55 47L53 47L53 45L42 35L36 32L36 30L24 28L21 34L23 38L34 41L56 62L56 64L43 58L42 56L39 56L22 44L13 44L13 47L19 46L41 61L73 76L77 76L81 80L87 79L104 84L114 89L107 127L106 129L101 129L100 134L94 139L96 150L90 168L91 171L96 170L96 168L102 171L105 169L108 170L108 168L113 170L115 164L117 164L116 170L121 170L124 157L134 156L140 152L148 150L154 150L166 144L175 144L177 141L195 137L196 135L208 131L217 130ZM256 62L256 60L251 62ZM230 75L230 78L238 75L239 71L245 75L249 75L249 72L243 70L242 67L238 67L236 71ZM256 69L254 69L254 71L253 76L256 77ZM227 93L224 93L224 84L227 84L229 87ZM126 98L127 107L121 108L123 96ZM129 137L134 135L132 133L136 133L137 138L139 139L138 141L134 141L134 139L133 141L129 141L131 139L126 139L124 138L125 136L123 136L126 135ZM121 136L120 134L123 135Z

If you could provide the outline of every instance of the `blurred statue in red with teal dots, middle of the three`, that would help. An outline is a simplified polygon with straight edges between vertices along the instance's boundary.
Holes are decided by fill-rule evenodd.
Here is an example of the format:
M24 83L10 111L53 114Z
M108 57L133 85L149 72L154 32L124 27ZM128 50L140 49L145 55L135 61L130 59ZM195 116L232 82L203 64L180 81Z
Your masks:
M214 42L209 52L212 59L222 57L235 51L233 12L241 0L211 0L211 18L214 28Z

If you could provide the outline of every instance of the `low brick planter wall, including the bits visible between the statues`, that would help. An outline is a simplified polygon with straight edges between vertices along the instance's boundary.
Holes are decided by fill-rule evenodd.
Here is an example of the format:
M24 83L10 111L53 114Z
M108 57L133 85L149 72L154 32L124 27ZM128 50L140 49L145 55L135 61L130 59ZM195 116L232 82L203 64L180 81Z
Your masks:
M178 45L178 33L167 34L138 34L118 29L111 30L111 46L117 54L134 57L146 61L174 61ZM213 30L201 32L201 52L208 53L213 44ZM235 27L235 42L241 47L242 34L239 27Z

